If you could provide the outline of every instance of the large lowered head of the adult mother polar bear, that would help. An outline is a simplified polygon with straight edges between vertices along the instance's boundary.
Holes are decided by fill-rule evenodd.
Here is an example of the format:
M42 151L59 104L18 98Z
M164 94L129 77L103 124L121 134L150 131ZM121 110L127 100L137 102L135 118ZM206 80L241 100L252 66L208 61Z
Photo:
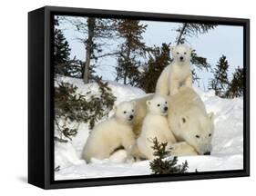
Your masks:
M211 138L214 129L214 114L181 116L179 126L183 138L199 154L210 155Z

